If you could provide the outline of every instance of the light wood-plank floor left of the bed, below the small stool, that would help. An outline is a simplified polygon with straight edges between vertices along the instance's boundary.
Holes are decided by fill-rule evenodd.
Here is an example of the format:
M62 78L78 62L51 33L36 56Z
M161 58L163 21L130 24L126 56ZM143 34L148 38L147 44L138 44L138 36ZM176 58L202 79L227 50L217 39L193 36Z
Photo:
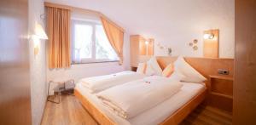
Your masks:
M42 125L96 125L73 95L61 95L61 103L47 102Z

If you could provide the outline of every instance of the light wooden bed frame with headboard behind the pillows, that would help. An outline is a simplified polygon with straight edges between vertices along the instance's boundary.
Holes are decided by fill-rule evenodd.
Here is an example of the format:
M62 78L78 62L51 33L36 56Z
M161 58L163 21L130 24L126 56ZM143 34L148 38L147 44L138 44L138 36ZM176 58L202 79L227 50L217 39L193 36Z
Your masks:
M160 67L164 69L167 64L177 60L176 57L157 57L157 60L160 64ZM192 65L195 70L201 72L205 77L209 75L217 74L218 69L225 68L227 69L230 66L230 59L205 59L205 58L185 58L185 60ZM143 60L145 61L145 60ZM231 73L232 74L232 73ZM207 83L207 82L206 82ZM207 85L208 87L208 85ZM84 98L78 90L74 90L75 96L79 99L84 108L93 116L99 124L115 125L116 122L113 122L107 115L102 111L96 108L96 106L91 103L88 99ZM189 115L191 111L195 109L197 105L200 105L201 102L207 96L207 88L202 90L200 94L197 94L193 99L190 99L185 105L180 107L177 111L172 113L171 116L168 116L165 121L161 122L161 125L177 125L182 122L183 119ZM167 107L166 107L167 108Z

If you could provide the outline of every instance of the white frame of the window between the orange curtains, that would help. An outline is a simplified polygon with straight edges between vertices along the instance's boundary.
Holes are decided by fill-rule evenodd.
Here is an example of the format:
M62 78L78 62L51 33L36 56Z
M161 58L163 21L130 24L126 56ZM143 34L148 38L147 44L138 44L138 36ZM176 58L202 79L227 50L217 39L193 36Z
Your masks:
M81 61L75 61L73 60L73 55L75 53L75 24L81 24L81 25L89 25L92 26L92 34L91 34L91 40L92 40L92 48L91 48L91 58L88 59L81 59ZM119 60L109 60L109 59L96 59L96 26L102 26L101 23L96 22L94 20L77 20L72 19L71 20L71 39L72 39L72 64L90 64L90 63L104 63L104 62L118 62Z

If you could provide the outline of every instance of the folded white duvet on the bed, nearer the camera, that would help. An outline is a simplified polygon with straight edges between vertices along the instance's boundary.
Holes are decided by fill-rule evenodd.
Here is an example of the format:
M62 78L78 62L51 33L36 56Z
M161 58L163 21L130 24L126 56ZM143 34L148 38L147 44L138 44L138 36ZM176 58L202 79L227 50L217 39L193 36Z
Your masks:
M128 119L169 99L182 86L178 80L153 76L108 88L96 96L115 114Z

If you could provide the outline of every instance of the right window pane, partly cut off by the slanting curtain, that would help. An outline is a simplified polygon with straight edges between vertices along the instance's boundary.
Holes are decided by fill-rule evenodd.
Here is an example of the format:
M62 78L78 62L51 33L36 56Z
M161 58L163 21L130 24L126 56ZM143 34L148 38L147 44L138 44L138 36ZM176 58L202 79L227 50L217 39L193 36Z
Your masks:
M96 25L96 60L119 60L101 25Z

